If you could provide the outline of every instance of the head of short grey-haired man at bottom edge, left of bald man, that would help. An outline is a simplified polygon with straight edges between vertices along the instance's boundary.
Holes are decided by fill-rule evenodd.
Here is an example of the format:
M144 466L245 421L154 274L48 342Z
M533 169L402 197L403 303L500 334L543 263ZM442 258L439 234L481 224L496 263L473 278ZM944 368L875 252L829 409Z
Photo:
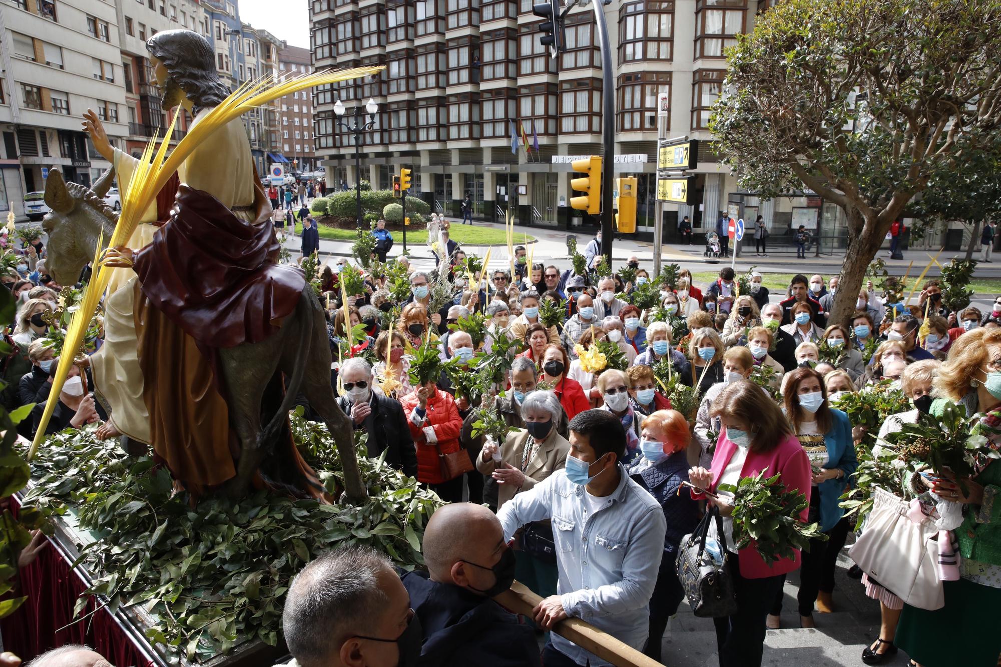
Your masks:
M385 555L338 549L310 562L285 598L282 625L299 667L415 667L423 631Z

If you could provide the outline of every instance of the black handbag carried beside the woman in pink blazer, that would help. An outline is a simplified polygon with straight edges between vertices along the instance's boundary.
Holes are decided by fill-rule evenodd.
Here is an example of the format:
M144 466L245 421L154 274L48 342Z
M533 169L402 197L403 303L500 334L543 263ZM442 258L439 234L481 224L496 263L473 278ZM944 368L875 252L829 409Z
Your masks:
M723 555L723 565L717 565L706 553L706 536L711 521L716 521ZM727 538L723 533L720 509L710 506L695 530L682 538L679 544L675 571L688 597L692 613L702 618L720 618L737 613L737 597L734 582L730 578L730 562L727 556Z

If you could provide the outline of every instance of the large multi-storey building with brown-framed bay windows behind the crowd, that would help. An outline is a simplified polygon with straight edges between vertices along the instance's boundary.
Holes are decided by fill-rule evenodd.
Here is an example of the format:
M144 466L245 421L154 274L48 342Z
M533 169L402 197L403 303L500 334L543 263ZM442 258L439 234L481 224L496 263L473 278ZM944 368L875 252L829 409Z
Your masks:
M709 108L726 70L723 49L750 30L768 4L624 0L606 6L616 89L604 91L590 2L568 14L568 50L554 59L539 42L533 0L311 0L315 67L386 65L375 79L316 90L317 156L328 182L354 182L352 139L338 131L333 104L341 100L350 114L371 97L379 111L364 137L362 178L373 186L388 187L399 165L409 164L418 192L437 210L457 213L469 193L483 219L503 219L515 208L523 224L573 226L594 219L569 208L574 194L565 158L601 154L602 123L615 122L616 175L638 178L638 230L650 233L659 93L670 98L667 136L710 139ZM615 118L602 118L603 94L616 95ZM739 191L709 141L693 172L700 203L667 204L669 232L683 215L696 230L715 224ZM773 216L776 203L745 202L753 208L746 217L757 215L757 206L766 219Z

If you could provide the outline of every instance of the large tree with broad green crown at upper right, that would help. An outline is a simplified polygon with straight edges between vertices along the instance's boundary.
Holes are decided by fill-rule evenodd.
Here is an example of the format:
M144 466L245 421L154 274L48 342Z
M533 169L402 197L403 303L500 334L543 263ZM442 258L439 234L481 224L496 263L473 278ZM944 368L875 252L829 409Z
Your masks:
M834 321L915 196L998 151L999 52L996 0L784 0L728 51L710 126L741 186L845 212Z

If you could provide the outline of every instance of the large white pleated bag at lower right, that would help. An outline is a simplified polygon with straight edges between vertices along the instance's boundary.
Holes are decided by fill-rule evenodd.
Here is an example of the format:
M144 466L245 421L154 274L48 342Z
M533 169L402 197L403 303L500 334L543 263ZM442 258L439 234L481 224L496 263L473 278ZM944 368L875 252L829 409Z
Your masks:
M927 516L919 523L904 500L883 489L873 494L873 509L848 555L869 577L918 609L945 606L939 579L938 528Z

